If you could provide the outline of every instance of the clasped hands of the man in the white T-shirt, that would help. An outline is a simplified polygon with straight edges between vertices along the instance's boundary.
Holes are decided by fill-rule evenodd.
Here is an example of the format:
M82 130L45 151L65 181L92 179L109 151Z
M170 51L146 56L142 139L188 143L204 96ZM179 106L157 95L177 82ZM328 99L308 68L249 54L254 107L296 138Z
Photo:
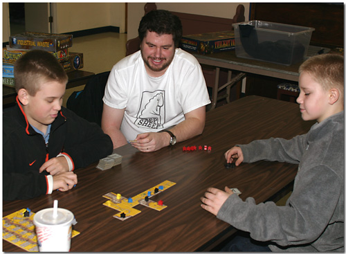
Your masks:
M167 132L147 132L138 134L131 145L140 152L154 152L170 145L170 137Z

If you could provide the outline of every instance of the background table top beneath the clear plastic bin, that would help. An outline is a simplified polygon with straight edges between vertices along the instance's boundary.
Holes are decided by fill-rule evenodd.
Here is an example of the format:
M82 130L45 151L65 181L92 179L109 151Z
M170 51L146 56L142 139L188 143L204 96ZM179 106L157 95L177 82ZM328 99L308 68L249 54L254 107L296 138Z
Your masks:
M226 51L210 55L201 55L192 53L200 64L215 66L217 68L225 68L233 71L242 71L245 73L253 73L273 78L291 80L298 82L298 69L302 62L286 66L283 64L273 64L259 60L250 60L240 58L235 55L235 51Z

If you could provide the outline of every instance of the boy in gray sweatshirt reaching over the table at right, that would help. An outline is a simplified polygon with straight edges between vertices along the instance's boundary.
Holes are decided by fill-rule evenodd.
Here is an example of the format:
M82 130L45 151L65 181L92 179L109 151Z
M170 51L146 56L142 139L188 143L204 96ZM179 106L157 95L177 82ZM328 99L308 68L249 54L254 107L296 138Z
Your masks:
M208 188L201 207L249 233L222 251L344 252L345 117L344 60L341 55L311 57L299 69L297 102L303 120L317 120L291 140L269 138L236 145L228 163L260 160L298 164L286 206L242 201L232 190ZM241 231L241 232L242 232Z

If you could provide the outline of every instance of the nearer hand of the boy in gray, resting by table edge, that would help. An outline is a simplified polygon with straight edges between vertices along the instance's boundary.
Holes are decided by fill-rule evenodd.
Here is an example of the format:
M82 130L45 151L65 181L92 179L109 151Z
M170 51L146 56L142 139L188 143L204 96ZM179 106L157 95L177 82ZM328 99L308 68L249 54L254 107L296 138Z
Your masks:
M204 197L201 197L201 207L204 210L211 212L213 215L217 215L217 212L219 212L221 206L231 194L233 194L233 191L228 187L225 187L225 191L217 188L208 188Z

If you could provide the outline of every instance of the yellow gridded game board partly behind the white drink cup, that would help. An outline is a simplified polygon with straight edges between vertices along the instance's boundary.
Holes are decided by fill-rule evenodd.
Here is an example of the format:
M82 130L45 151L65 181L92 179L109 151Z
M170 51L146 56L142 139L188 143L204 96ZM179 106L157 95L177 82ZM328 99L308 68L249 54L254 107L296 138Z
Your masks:
M2 218L2 238L24 251L37 252L39 248L33 223L35 212L30 210L30 216L24 217L24 212L29 212L29 210L24 208ZM71 237L79 234L78 231L72 230Z

